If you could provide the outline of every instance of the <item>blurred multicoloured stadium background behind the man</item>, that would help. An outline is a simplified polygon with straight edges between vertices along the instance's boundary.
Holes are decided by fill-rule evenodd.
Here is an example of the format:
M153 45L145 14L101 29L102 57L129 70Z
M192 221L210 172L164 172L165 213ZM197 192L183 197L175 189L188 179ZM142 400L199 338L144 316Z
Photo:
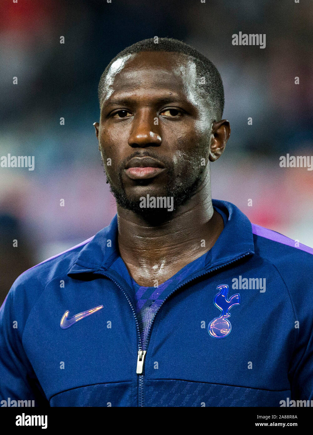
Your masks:
M0 155L34 155L35 170L0 168L0 303L20 273L115 214L92 125L98 80L118 51L148 37L183 40L221 73L232 134L211 165L212 197L313 247L313 171L279 167L287 153L313 155L312 22L310 0L3 2ZM239 31L266 33L266 48L233 46Z

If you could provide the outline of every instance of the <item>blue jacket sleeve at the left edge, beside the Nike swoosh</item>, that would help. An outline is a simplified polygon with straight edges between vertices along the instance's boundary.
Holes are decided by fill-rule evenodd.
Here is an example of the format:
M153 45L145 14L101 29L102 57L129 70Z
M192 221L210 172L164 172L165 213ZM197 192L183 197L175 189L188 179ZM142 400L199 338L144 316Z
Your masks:
M22 335L29 307L24 289L17 282L18 279L0 308L0 406L12 404L13 400L49 406L23 348Z

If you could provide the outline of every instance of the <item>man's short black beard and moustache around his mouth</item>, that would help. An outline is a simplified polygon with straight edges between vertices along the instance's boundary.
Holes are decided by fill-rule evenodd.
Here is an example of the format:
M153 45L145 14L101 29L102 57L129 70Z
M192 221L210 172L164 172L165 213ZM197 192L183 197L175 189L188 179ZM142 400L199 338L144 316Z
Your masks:
M205 171L206 166L200 166L200 154L203 156L202 152L199 150L193 156L188 156L185 154L185 159L181 159L176 167L172 161L164 161L168 182L165 183L162 192L158 193L158 196L162 197L172 197L173 198L173 210L169 211L167 208L147 208L140 207L139 198L130 198L127 196L125 187L122 181L122 172L125 168L126 162L123 161L118 167L118 183L114 184L111 181L111 178L108 175L108 172L105 171L107 176L107 183L110 184L110 191L113 194L116 203L125 208L126 210L130 210L138 214L141 218L148 221L150 224L156 225L161 224L165 221L168 221L173 216L173 211L177 210L179 206L185 204L197 191L199 185L203 181L203 173ZM159 156L145 151L143 153L139 153L138 151L131 155L135 156L149 156L154 157L155 159L159 159ZM130 160L128 158L127 160ZM147 185L147 193L142 194L141 196L146 196L149 193L148 184L151 182L151 179L148 180L137 180L138 185L145 186Z

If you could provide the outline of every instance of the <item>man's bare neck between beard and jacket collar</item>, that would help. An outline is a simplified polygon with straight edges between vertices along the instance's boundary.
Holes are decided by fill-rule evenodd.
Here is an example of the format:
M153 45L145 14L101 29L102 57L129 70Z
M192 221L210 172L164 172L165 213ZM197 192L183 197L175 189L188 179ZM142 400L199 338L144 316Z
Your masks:
M149 285L154 279L160 284L212 248L223 220L212 206L209 174L197 192L171 213L168 221L152 225L118 206L119 251L138 284Z

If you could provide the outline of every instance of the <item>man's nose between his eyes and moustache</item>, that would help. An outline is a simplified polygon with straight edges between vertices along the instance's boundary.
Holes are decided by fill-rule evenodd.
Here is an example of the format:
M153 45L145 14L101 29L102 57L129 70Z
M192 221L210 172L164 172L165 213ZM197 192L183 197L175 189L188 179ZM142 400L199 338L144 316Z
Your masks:
M135 115L131 133L128 138L128 145L131 147L156 147L161 145L162 138L158 124L155 125L154 114L143 110Z

